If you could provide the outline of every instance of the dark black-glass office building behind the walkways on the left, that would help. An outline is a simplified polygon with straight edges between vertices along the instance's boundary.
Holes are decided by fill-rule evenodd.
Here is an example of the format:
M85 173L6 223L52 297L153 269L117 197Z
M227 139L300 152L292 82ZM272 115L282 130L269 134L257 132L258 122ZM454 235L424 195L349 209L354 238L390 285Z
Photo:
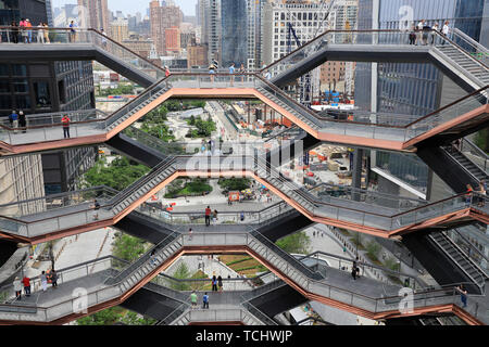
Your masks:
M38 4L39 1L16 1L15 7L2 12L2 25L28 16L33 23L47 22L50 9L45 3ZM29 115L96 107L91 62L33 62L28 56L11 62L0 57L0 116L3 117L12 110ZM50 194L75 188L77 177L95 162L96 155L92 147L39 155L42 191Z

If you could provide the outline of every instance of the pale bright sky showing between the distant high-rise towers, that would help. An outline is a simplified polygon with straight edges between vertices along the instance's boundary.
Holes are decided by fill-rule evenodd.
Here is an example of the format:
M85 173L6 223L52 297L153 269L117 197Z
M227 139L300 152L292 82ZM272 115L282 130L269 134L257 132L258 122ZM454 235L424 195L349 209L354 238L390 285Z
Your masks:
M186 15L196 15L197 0L174 0ZM109 10L112 12L122 11L125 15L128 13L135 15L140 12L146 15L146 9L149 8L150 0L108 0ZM66 3L77 3L76 0L52 0L52 8L61 8Z

